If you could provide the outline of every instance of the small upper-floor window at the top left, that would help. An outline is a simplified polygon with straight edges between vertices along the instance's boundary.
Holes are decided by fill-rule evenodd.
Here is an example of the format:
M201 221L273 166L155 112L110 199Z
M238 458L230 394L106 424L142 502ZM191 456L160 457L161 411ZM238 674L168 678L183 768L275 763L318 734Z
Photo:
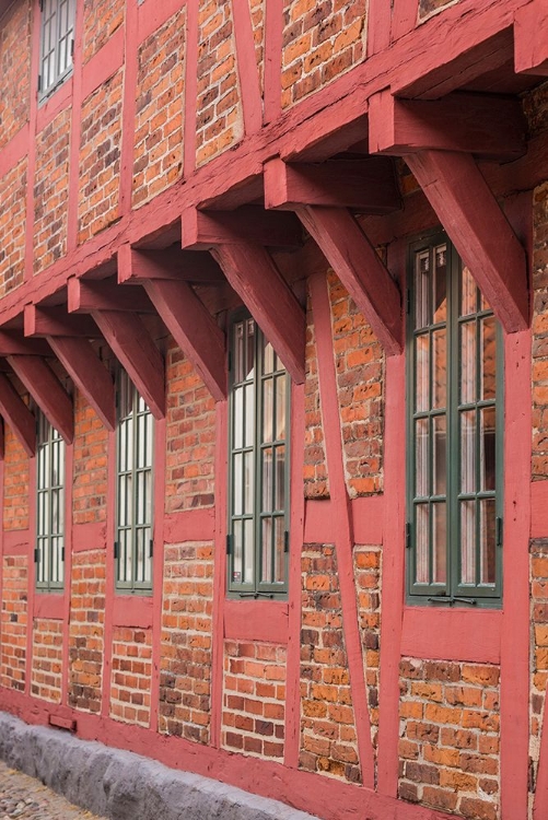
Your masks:
M39 93L45 97L72 70L77 0L40 0Z

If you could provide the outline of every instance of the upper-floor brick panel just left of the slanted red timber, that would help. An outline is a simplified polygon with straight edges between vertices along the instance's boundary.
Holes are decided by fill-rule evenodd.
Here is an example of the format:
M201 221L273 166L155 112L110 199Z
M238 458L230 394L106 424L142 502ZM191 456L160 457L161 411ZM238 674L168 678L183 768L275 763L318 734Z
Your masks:
M243 136L232 3L199 0L197 165Z

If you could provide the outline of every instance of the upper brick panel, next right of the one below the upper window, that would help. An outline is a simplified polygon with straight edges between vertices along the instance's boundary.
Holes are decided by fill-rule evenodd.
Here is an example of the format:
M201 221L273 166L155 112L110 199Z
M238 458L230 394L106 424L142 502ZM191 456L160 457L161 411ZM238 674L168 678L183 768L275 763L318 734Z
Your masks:
M118 219L124 70L82 104L80 141L79 242Z

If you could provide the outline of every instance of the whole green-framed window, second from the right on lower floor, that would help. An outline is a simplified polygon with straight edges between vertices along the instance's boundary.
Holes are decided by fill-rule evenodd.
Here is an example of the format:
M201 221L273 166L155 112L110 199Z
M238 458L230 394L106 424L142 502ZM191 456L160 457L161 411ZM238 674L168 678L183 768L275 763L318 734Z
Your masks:
M230 324L229 593L288 588L290 378L248 314Z

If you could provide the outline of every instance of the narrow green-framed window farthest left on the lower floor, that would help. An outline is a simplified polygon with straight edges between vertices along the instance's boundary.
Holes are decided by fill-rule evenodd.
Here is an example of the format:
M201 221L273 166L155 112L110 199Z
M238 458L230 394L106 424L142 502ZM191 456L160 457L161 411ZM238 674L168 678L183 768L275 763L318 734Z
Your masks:
M65 442L39 411L36 495L36 588L55 591L65 577Z

